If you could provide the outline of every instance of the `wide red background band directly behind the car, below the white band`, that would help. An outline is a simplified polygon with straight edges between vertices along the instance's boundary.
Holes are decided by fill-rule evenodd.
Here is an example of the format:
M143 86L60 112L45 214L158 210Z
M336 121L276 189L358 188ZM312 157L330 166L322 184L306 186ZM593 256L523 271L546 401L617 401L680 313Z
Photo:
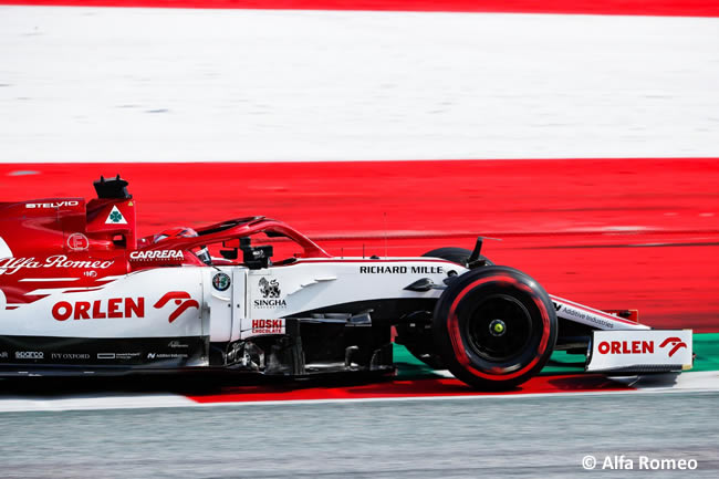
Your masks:
M555 159L0 165L0 200L92 197L122 174L140 235L264 215L334 254L471 248L552 293L719 331L719 162ZM386 216L385 216L386 215Z

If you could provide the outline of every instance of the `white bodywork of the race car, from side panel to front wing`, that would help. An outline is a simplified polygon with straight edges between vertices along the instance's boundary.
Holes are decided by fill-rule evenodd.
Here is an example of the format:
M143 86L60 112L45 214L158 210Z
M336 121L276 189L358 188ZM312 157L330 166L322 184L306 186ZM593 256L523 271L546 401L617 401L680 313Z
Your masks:
M0 271L8 273L11 270ZM91 288L73 288L73 277L25 278L21 281L37 283L27 295L40 299L7 304L4 295L0 296L3 310L0 335L75 341L158 339L178 350L187 346L184 342L188 339L197 340L198 344L232 344L258 336L285 335L289 319L300 323L345 322L346 317L317 319L313 313L327 308L342 309L343 304L436 301L446 289L447 278L468 271L462 265L436 258L313 258L261 269L242 265L154 268L98 278L96 285ZM226 274L230 280L229 284L221 284L222 289L215 281L218 274ZM407 289L420 280L428 281L431 287L425 291ZM46 283L63 285L48 288ZM606 351L602 351L596 342L590 344L587 371L640 368L643 364L690 367L690 331L650 331L646 325L616 314L559 296L552 295L551 299L558 319L588 326L597 334L601 332L603 339L607 334L617 339L607 340L607 344L623 342L623 348L607 347ZM372 315L369 310L369 321ZM629 339L624 337L629 333ZM632 342L652 341L654 344L675 339L688 347L674 357L654 346L648 352L631 350ZM628 354L623 354L627 353L627 347ZM17 358L24 360L39 353L27 353L30 356L22 356L23 352L15 354L20 354ZM60 357L58 353L51 354L53 358ZM97 358L112 354L119 353L97 352ZM175 354L143 351L137 354L143 356L138 361L170 356L184 358L184 367L210 364L206 348L199 354L183 355L181 351Z

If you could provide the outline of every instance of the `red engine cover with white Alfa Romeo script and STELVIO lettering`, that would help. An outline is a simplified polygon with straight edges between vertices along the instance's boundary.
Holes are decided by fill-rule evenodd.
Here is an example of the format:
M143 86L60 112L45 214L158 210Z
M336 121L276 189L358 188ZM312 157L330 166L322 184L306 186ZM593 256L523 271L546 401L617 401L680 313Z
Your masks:
M129 272L128 248L136 247L134 206L132 199L0 202L0 238L11 252L0 258L8 303L31 303L44 289L100 288L105 278ZM107 222L114 208L121 211L117 223Z

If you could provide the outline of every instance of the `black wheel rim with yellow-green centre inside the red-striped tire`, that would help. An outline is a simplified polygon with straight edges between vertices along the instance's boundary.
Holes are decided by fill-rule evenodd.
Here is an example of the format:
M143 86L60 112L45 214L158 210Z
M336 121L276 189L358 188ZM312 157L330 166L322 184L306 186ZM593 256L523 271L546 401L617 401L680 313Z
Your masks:
M532 317L515 298L484 298L466 323L468 344L482 360L500 363L522 354L532 337Z

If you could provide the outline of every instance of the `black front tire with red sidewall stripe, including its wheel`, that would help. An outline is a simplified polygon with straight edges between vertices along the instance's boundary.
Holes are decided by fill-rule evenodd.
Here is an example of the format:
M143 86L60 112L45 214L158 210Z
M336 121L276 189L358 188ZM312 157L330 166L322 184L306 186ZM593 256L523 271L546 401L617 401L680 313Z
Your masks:
M556 332L546 291L508 267L462 274L445 290L433 317L442 363L480 389L510 389L539 373L552 354Z

